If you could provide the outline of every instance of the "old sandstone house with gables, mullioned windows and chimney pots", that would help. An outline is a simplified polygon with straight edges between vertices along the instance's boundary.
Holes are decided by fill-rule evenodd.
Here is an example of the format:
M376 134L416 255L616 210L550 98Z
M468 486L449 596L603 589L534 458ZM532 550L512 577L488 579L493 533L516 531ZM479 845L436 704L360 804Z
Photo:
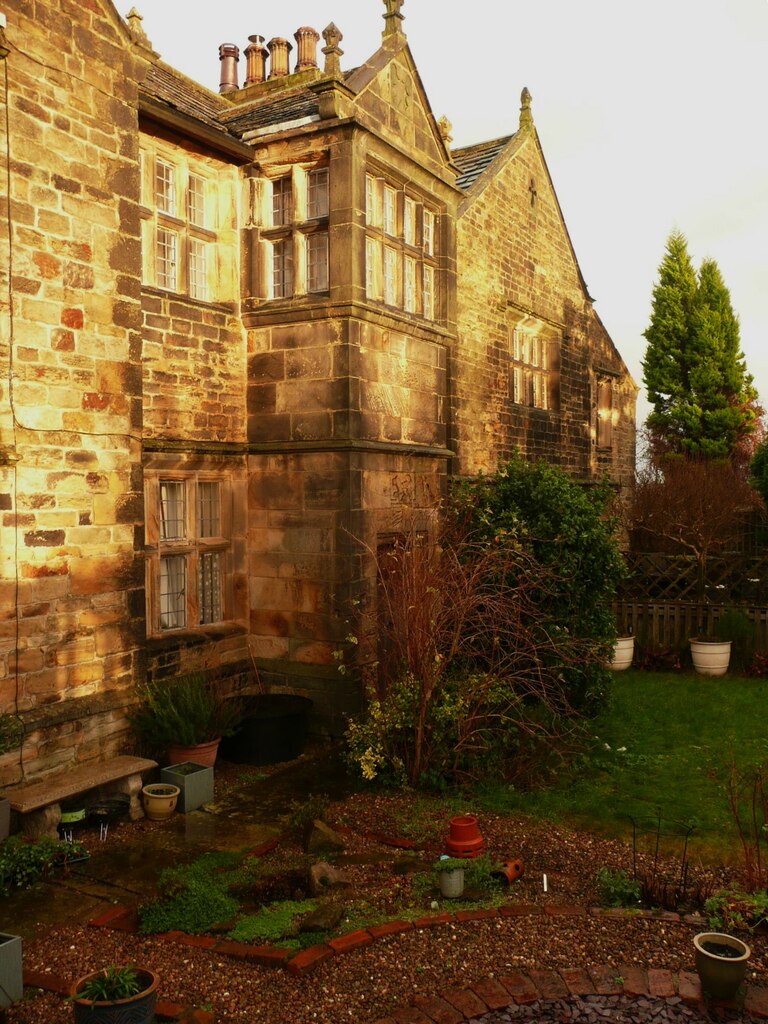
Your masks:
M351 602L450 474L519 447L631 478L635 386L529 97L452 152L401 6L352 71L334 25L293 68L288 39L244 68L222 45L217 94L135 11L6 0L0 711L25 740L0 784L129 746L136 682L194 667L257 665L338 732Z

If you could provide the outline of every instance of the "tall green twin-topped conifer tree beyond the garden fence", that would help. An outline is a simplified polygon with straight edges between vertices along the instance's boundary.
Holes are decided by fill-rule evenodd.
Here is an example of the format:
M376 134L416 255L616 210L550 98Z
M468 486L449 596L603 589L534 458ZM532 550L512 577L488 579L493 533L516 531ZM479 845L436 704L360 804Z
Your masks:
M653 407L648 427L656 447L743 458L762 411L741 353L738 319L717 263L705 260L696 276L679 231L667 242L645 338L643 377Z

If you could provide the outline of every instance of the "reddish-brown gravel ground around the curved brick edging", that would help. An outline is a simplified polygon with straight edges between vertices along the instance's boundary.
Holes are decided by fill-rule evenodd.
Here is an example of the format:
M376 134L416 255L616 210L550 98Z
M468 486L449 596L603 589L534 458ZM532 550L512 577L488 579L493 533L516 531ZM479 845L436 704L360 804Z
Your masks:
M217 799L237 785L234 767L217 768ZM327 820L343 830L343 869L352 880L351 890L341 898L350 906L370 907L377 921L418 909L413 874L398 873L395 863L414 856L429 863L444 848L450 818L467 810L474 809L412 795L372 793L331 804ZM159 937L70 926L26 943L25 968L75 979L104 964L135 963L161 975L162 999L208 1009L219 1024L367 1024L408 1006L417 993L436 995L511 971L606 965L617 975L627 966L694 970L692 936L702 930L694 923L590 912L597 902L597 868L631 872L631 847L522 816L482 811L477 816L494 859L524 861L525 873L505 892L504 904L530 904L536 912L453 921L379 938L300 977ZM116 831L115 841L129 842L135 829L147 827L162 823L126 823ZM392 840L404 842L392 845ZM412 844L414 849L409 850ZM285 873L300 856L298 840L286 838L264 856L265 871ZM679 870L674 860L664 866L670 876ZM725 869L696 864L691 876L701 891L737 881ZM423 892L420 899L424 914L438 912L429 897L424 904ZM444 909L451 907L440 902L439 910ZM748 941L753 948L748 982L768 986L766 938L760 933L748 936ZM71 1013L63 1000L44 994L8 1010L7 1021L63 1024Z

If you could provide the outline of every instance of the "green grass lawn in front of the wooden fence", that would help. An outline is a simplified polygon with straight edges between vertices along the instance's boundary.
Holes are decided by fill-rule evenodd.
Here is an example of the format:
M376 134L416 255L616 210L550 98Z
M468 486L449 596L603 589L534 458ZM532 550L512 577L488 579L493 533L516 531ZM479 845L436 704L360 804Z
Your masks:
M665 822L695 825L694 852L735 860L725 782L734 764L768 764L768 682L635 671L613 680L609 710L590 724L589 752L554 786L508 794L507 808L625 838L631 816L660 812ZM502 802L498 791L487 796Z

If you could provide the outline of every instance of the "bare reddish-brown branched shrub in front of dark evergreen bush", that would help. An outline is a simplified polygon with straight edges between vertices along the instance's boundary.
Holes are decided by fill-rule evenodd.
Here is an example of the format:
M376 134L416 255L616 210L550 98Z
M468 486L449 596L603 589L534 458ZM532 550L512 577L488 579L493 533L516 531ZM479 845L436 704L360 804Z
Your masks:
M594 645L543 616L553 574L530 553L412 531L378 570L379 657L348 733L364 776L456 778L570 727L563 670Z

